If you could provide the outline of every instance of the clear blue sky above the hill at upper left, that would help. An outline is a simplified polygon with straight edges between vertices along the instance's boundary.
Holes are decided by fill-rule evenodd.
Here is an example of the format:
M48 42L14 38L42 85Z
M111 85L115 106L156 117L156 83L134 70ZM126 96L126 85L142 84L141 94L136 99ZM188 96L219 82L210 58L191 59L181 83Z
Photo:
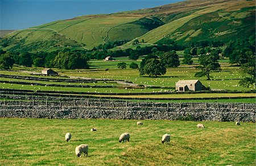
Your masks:
M0 30L19 30L87 14L145 9L184 0L0 0Z

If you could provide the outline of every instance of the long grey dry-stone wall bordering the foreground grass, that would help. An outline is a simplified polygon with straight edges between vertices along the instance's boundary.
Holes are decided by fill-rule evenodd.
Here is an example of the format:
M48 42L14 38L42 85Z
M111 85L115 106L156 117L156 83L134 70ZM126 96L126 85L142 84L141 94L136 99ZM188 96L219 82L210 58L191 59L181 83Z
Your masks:
M154 103L99 99L0 101L6 118L168 119L256 122L255 103Z

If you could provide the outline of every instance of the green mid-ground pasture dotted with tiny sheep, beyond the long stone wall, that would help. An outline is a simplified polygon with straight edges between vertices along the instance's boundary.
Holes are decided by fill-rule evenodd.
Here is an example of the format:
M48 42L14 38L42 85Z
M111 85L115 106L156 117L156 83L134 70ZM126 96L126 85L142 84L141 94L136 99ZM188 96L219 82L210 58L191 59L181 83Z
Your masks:
M178 52L182 55L183 52ZM104 60L90 60L90 69L54 69L60 76L40 76L31 75L31 73L40 73L43 68L27 68L15 66L13 70L0 70L1 74L12 76L29 76L29 77L43 77L43 78L61 78L61 79L73 79L73 78L99 78L101 81L95 82L59 82L59 81L34 81L24 80L22 78L5 78L1 77L0 88L2 89L18 89L18 90L47 90L49 92L64 91L83 93L94 93L93 96L97 97L122 97L126 99L141 98L143 100L155 98L161 100L161 98L203 98L213 97L239 97L240 99L224 99L220 102L255 102L255 86L243 87L239 85L239 81L243 78L243 74L239 67L230 66L228 59L221 59L221 72L212 72L212 80L207 80L206 77L195 77L195 73L199 70L195 67L198 65L198 58L194 57L195 64L184 65L181 64L178 68L167 68L167 73L164 76L156 78L148 76L139 76L138 69L131 69L129 65L131 63L141 63L142 57L139 60L129 60L128 57L117 57L114 61ZM181 60L181 58L180 58ZM127 64L126 69L117 68L117 64L125 62ZM108 69L108 70L106 70ZM104 79L110 79L104 81ZM133 82L134 85L125 85L125 81L119 82L117 80L126 80ZM200 94L174 94L175 84L179 80L200 80L204 86L209 87L211 90L229 90L233 93L200 93ZM17 82L20 82L19 84ZM40 85L36 85L38 83ZM57 86L56 86L57 85ZM86 87L82 87L86 86ZM243 93L248 92L251 93ZM143 93L143 94L142 94ZM150 93L150 94L149 94ZM168 94L160 94L168 93ZM245 98L243 98L245 97ZM180 102L180 101L169 101ZM196 102L190 100L189 102ZM212 102L216 102L216 99L212 99ZM217 101L218 102L218 101Z

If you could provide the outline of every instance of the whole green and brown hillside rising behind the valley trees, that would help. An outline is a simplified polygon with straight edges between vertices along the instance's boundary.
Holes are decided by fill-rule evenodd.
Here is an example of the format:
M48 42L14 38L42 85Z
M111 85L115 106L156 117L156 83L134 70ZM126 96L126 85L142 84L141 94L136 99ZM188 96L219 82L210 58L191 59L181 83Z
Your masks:
M114 14L85 15L14 31L0 41L4 50L92 49L114 40L122 48L161 43L246 38L255 34L254 1L190 0Z

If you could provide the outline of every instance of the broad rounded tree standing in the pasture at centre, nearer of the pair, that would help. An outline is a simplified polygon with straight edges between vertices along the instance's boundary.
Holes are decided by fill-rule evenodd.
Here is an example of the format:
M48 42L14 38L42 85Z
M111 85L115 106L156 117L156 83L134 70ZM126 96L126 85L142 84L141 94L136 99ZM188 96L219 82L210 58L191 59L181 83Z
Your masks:
M141 62L141 67L139 68L139 74L148 74L150 77L157 77L166 73L166 68L164 64L160 62L157 56L148 55Z

